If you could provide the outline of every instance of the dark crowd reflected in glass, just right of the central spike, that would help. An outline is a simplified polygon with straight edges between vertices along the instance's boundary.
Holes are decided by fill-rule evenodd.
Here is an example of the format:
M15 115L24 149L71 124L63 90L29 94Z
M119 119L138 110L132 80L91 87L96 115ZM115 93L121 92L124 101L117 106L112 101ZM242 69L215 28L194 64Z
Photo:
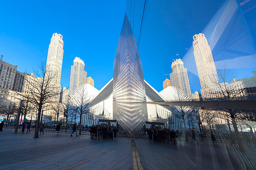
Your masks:
M151 127L146 128L146 132L148 135L148 139L152 142L160 142L160 143L171 143L171 144L177 144L177 137L179 136L178 130L170 130L168 128L162 128L162 127ZM170 140L170 141L169 141Z

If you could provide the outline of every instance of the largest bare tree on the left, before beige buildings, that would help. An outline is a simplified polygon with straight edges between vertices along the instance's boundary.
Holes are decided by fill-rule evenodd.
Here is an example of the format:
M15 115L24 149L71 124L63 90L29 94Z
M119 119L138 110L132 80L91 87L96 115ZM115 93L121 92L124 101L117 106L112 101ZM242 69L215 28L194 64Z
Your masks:
M34 138L38 138L39 123L43 107L47 103L56 102L59 100L60 85L53 82L55 73L51 69L47 69L44 64L41 64L39 71L34 70L35 77L26 76L24 79L25 89L23 93L19 93L23 99L30 101L37 110L36 129Z

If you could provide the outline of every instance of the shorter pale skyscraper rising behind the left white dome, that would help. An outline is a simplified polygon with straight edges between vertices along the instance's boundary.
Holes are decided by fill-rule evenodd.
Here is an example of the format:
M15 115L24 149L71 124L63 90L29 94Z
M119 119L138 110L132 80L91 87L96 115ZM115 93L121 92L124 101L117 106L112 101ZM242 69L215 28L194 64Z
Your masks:
M84 61L79 57L76 57L74 65L71 66L69 94L72 94L77 88L86 83L87 72L84 71L84 67Z

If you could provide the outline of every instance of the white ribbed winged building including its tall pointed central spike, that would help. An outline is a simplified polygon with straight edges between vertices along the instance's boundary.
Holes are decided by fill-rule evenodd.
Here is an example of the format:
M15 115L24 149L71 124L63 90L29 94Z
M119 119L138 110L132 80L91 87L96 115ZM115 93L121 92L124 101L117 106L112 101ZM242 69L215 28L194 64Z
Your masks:
M115 53L113 78L99 92L94 90L92 96L95 97L86 105L89 113L82 115L82 125L95 125L98 123L95 116L104 115L114 118L129 135L136 135L143 125L150 126L145 123L155 118L165 119L168 128L181 130L183 122L172 115L177 111L175 107L143 103L174 100L176 93L183 92L169 86L158 93L144 80L137 44L125 15Z

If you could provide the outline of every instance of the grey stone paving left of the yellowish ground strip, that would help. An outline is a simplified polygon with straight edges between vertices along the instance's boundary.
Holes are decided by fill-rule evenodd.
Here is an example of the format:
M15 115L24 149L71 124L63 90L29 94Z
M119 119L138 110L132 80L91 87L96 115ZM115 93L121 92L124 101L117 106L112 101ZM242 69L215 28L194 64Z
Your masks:
M129 140L91 140L89 136L69 137L33 134L0 134L0 169L113 169L132 167ZM15 140L13 140L15 139ZM119 157L123 161L116 161ZM129 165L126 163L129 162ZM118 165L117 165L118 164Z

